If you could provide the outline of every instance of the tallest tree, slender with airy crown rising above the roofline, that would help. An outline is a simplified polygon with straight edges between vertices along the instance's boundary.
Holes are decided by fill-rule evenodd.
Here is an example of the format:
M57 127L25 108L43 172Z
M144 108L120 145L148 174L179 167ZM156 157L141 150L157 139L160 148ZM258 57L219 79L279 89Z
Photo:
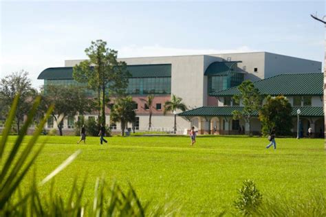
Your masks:
M118 61L118 52L106 46L105 41L92 41L91 46L85 49L89 60L80 62L73 71L75 80L87 83L90 89L98 92L100 122L104 125L109 93L118 95L124 93L130 77L126 62Z

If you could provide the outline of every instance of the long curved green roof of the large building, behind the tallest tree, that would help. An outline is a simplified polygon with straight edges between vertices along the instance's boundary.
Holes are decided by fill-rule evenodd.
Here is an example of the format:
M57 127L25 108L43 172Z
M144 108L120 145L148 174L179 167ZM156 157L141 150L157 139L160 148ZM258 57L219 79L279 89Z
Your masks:
M171 64L128 65L132 78L171 77ZM37 79L67 80L72 78L72 67L54 67L42 71Z

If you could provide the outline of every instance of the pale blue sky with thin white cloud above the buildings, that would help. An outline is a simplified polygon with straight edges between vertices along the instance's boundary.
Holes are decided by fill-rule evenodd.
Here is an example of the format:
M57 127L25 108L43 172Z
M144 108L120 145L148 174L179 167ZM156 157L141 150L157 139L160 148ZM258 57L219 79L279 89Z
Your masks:
M118 57L272 52L323 62L325 1L0 0L0 78L85 59L91 41Z

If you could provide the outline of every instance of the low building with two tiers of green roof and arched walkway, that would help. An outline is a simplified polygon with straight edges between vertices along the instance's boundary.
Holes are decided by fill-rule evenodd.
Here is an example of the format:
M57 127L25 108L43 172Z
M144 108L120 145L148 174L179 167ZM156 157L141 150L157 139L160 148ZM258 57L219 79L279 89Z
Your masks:
M323 112L323 73L290 73L265 78L254 82L254 86L264 95L284 95L292 104L292 122L297 132L296 111L301 110L299 116L299 135L306 136L308 128L312 127L315 137L322 137L324 132ZM186 117L201 134L234 135L248 133L248 123L243 119L232 119L232 111L243 109L242 104L235 104L233 95L238 95L237 87L210 93L219 100L219 106L202 106L197 109L180 113ZM261 133L261 123L258 113L254 113L251 122L254 134ZM244 131L243 132L243 128ZM320 133L321 132L321 133Z

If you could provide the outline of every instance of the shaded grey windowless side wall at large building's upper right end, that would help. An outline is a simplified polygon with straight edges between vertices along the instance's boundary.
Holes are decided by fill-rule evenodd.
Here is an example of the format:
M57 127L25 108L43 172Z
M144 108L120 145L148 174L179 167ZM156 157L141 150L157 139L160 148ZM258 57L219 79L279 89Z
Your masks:
M321 62L265 52L265 78L281 73L320 72Z

